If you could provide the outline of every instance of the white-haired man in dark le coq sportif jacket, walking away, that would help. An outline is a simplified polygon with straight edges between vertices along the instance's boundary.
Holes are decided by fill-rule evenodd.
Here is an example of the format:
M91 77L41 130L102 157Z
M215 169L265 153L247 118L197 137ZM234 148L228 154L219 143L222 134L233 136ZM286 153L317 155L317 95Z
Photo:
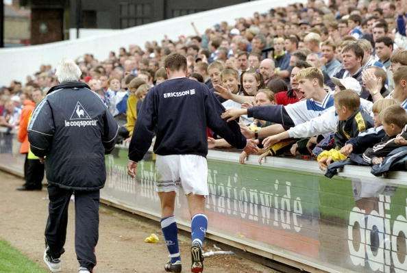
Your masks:
M92 272L99 237L99 190L106 181L105 154L114 148L119 127L99 96L78 81L81 71L75 62L62 62L56 75L61 84L37 105L28 126L30 148L45 161L49 183L44 261L51 272L60 272L74 194L79 272Z

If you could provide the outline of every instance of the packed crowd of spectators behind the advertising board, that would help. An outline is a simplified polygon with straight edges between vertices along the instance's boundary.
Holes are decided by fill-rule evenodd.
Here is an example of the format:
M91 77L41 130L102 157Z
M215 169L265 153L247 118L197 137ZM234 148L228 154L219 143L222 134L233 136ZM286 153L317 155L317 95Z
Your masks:
M363 154L360 147L374 150L383 138L385 144L393 140L393 148L406 144L407 114L397 112L407 109L406 4L309 0L256 12L234 25L220 22L203 34L191 23L194 36L166 36L146 42L144 49L130 44L106 60L88 53L76 62L82 81L123 125L127 140L149 88L167 79L165 57L177 52L186 55L187 77L208 86L223 103L223 118L239 118L245 136L258 143L240 155L241 163L250 153L260 160L291 153L317 157L326 169L352 151ZM18 127L33 92L45 94L58 84L54 72L42 65L24 84L12 81L1 88L1 127ZM399 109L381 103L384 97ZM375 143L355 142L363 133L378 132L382 137ZM228 144L208 130L208 146ZM377 164L387 154L369 150L363 158Z

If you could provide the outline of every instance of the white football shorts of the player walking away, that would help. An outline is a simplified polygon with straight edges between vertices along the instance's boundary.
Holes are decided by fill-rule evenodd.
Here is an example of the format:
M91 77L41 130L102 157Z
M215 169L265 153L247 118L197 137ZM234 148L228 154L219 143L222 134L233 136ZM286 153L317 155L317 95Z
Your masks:
M157 192L173 192L181 185L185 194L207 196L208 164L200 155L157 155Z

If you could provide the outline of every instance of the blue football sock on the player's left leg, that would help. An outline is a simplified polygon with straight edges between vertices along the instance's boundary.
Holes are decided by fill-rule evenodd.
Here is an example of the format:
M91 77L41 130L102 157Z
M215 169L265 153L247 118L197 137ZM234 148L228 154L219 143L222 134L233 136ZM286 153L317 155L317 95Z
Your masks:
M178 248L178 229L175 216L170 216L161 219L161 230L164 234L165 243L171 257L171 263L181 261L180 248Z

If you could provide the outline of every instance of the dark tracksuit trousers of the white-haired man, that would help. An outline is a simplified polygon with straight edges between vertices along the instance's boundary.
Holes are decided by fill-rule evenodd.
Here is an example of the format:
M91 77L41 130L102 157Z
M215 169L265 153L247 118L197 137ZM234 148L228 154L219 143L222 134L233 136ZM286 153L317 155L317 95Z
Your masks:
M75 252L79 265L92 270L96 265L95 247L99 239L99 190L66 190L49 184L49 216L45 228L48 255L58 259L64 253L68 206L75 195Z

